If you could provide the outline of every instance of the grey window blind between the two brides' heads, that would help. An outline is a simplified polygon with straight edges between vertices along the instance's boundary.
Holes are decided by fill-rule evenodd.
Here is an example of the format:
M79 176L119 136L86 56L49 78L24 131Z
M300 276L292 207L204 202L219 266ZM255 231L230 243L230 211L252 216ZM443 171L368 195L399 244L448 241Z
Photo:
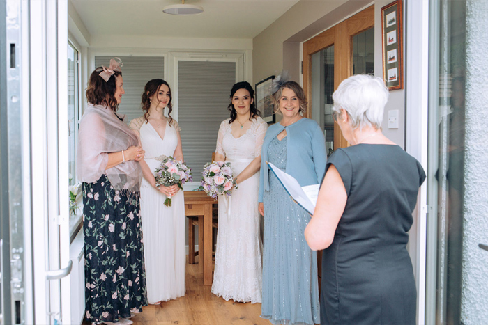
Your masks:
M235 62L178 61L178 124L194 182L215 152L217 134L236 83Z

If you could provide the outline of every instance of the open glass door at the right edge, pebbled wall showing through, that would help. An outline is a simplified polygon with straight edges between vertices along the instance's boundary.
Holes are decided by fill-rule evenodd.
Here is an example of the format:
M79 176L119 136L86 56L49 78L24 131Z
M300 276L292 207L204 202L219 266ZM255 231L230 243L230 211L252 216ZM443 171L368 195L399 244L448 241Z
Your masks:
M488 3L429 2L427 324L488 319L485 22Z

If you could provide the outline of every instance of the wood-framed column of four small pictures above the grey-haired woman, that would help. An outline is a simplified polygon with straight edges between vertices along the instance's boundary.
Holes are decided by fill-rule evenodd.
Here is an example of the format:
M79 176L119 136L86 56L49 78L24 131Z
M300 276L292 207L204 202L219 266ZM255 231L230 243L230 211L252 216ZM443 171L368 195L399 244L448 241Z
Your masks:
M381 8L383 80L389 90L403 89L402 0Z

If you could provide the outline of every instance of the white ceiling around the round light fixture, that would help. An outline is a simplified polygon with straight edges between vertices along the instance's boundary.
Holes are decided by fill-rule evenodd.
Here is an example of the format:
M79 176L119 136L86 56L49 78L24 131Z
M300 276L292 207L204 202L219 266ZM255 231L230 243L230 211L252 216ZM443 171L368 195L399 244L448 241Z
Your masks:
M191 16L162 8L181 0L70 0L90 35L162 38L254 38L298 0L186 0L204 8Z

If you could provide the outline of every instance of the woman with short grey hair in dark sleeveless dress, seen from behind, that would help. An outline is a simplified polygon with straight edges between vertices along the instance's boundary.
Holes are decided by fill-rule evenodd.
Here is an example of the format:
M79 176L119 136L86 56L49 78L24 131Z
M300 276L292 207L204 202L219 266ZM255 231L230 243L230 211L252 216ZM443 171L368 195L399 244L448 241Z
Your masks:
M330 155L305 229L310 248L324 250L320 324L415 324L406 244L425 172L381 133L388 100L382 79L349 77L333 100L351 146Z

